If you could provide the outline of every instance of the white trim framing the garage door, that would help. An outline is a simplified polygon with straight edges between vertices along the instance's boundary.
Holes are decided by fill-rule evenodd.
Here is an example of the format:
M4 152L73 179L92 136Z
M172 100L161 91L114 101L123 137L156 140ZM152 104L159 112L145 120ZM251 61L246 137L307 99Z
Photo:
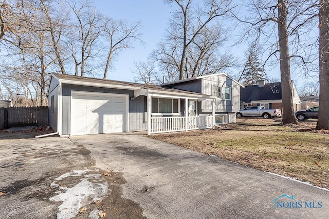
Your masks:
M72 135L72 97L73 94L96 94L100 96L118 96L118 97L124 97L125 98L125 124L123 131L127 132L129 131L129 94L117 94L117 93L101 93L101 92L89 92L89 91L71 91L70 96L70 135Z

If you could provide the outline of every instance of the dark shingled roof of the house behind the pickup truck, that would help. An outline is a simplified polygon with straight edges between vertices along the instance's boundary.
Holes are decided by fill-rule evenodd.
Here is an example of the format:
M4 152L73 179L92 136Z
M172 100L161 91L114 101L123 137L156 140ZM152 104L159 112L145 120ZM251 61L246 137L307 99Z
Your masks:
M242 103L265 101L267 99L282 99L281 82L265 84L264 87L251 85L241 88L240 101Z

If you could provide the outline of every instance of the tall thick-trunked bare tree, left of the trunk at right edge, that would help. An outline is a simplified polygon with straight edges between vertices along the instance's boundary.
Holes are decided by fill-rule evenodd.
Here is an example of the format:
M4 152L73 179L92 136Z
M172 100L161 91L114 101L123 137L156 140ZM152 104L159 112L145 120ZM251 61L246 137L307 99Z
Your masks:
M252 16L243 19L237 17L247 24L243 38L253 38L253 41L266 47L265 52L269 55L265 63L273 64L273 59L280 62L283 124L298 123L293 108L290 59L294 60L295 66L303 67L307 72L314 69L317 59L314 55L316 37L309 38L312 34L308 34L317 16L316 2L317 0L293 1L287 4L286 0L279 0L273 5L272 1L250 0L247 4L252 8ZM291 39L290 42L288 38Z

